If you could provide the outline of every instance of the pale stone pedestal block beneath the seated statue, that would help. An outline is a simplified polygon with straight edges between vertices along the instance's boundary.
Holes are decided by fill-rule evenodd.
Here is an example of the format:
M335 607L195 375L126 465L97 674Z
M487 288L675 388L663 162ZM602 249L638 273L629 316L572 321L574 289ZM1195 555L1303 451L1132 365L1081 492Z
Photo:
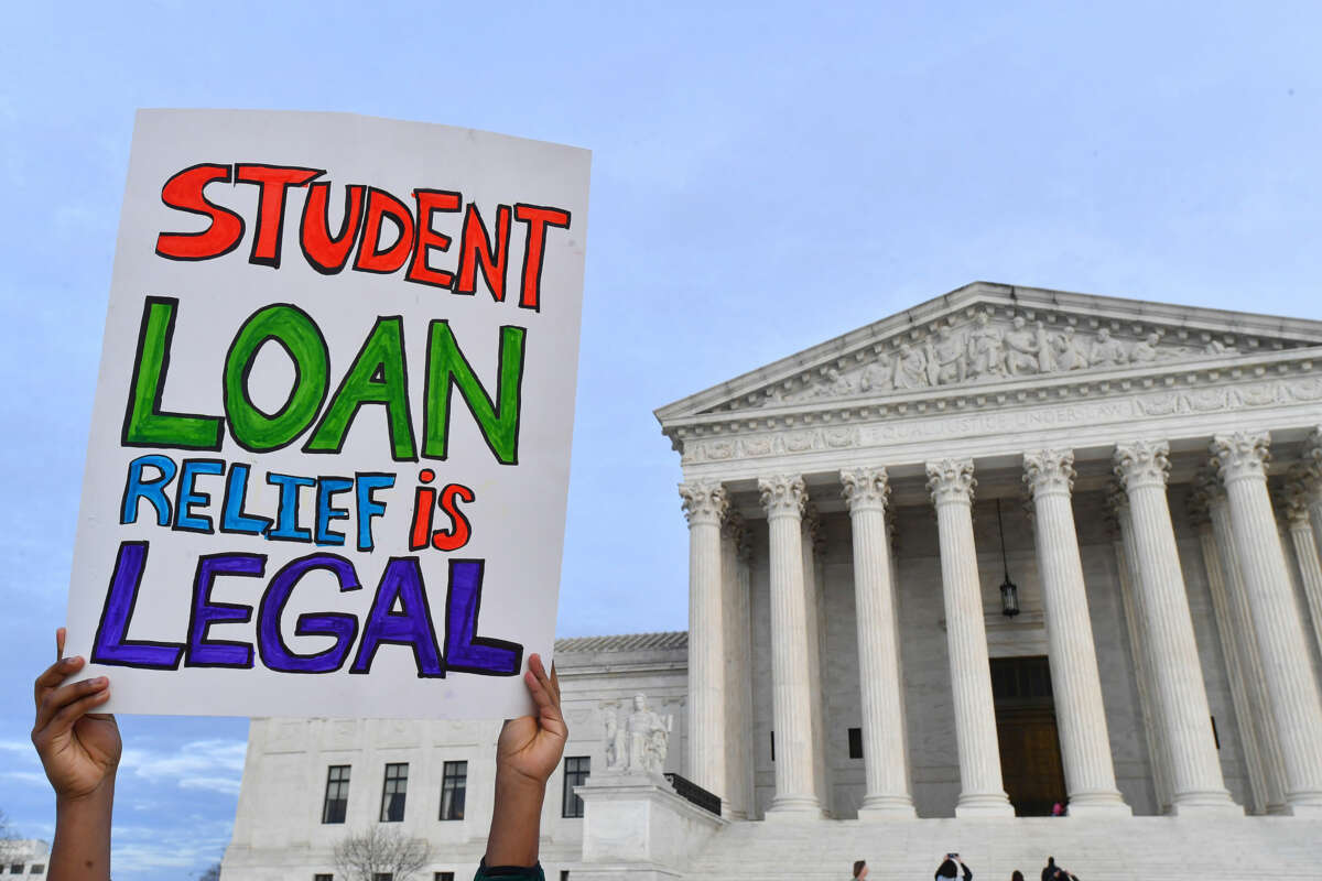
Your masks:
M724 820L674 794L662 777L594 774L583 799L583 865L576 880L670 881Z

